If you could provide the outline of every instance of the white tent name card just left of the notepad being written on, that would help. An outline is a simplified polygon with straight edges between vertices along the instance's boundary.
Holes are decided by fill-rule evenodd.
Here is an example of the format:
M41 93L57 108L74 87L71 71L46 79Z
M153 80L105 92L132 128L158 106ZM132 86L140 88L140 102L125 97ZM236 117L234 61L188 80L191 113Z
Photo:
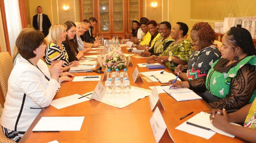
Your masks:
M157 103L158 103L159 108L162 107L163 110L165 111L165 108L163 107L163 104L162 104L162 102L159 98L159 95L157 93L157 88L156 87L153 88L151 94L149 95L149 103L150 103L151 111L154 110Z

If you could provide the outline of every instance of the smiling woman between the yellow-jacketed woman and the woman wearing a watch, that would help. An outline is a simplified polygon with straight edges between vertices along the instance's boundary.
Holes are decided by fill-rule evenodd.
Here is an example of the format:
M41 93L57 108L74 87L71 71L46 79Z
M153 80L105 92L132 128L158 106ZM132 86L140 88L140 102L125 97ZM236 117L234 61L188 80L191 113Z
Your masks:
M140 52L140 56L149 57L152 55L160 55L166 48L174 41L171 38L171 24L168 21L163 21L160 23L158 32L160 33L161 37L157 39L154 46L145 52Z

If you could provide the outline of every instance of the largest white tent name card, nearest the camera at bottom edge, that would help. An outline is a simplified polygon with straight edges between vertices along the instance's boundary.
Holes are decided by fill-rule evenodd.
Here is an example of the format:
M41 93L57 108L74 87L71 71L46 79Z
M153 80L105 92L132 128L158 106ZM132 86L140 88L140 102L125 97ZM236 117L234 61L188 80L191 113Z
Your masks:
M149 119L154 137L155 137L155 141L158 143L160 141L160 139L163 137L164 133L166 133L166 130L168 132L169 137L172 136L165 124L165 120L163 119L163 116L160 112L160 110L157 108L155 108L155 111L152 115L152 117ZM173 140L173 139L172 139Z

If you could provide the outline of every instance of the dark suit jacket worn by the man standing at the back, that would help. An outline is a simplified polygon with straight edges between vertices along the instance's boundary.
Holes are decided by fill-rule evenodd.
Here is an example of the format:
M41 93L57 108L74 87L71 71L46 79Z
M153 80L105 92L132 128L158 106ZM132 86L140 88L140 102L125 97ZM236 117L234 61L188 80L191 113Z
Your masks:
M42 14L42 15L43 15L43 21L42 21L43 33L44 33L44 36L46 37L49 33L49 28L51 27L52 24L46 14ZM39 29L37 17L38 17L38 14L34 15L33 17L33 27L35 28L35 30Z

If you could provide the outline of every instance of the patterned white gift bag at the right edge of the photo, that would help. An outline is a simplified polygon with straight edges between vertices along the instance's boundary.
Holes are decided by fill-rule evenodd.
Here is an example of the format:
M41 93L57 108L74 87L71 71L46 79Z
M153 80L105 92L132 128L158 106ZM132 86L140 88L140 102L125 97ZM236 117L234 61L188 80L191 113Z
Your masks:
M251 37L256 37L256 17L243 17L242 28L247 29L251 33Z

